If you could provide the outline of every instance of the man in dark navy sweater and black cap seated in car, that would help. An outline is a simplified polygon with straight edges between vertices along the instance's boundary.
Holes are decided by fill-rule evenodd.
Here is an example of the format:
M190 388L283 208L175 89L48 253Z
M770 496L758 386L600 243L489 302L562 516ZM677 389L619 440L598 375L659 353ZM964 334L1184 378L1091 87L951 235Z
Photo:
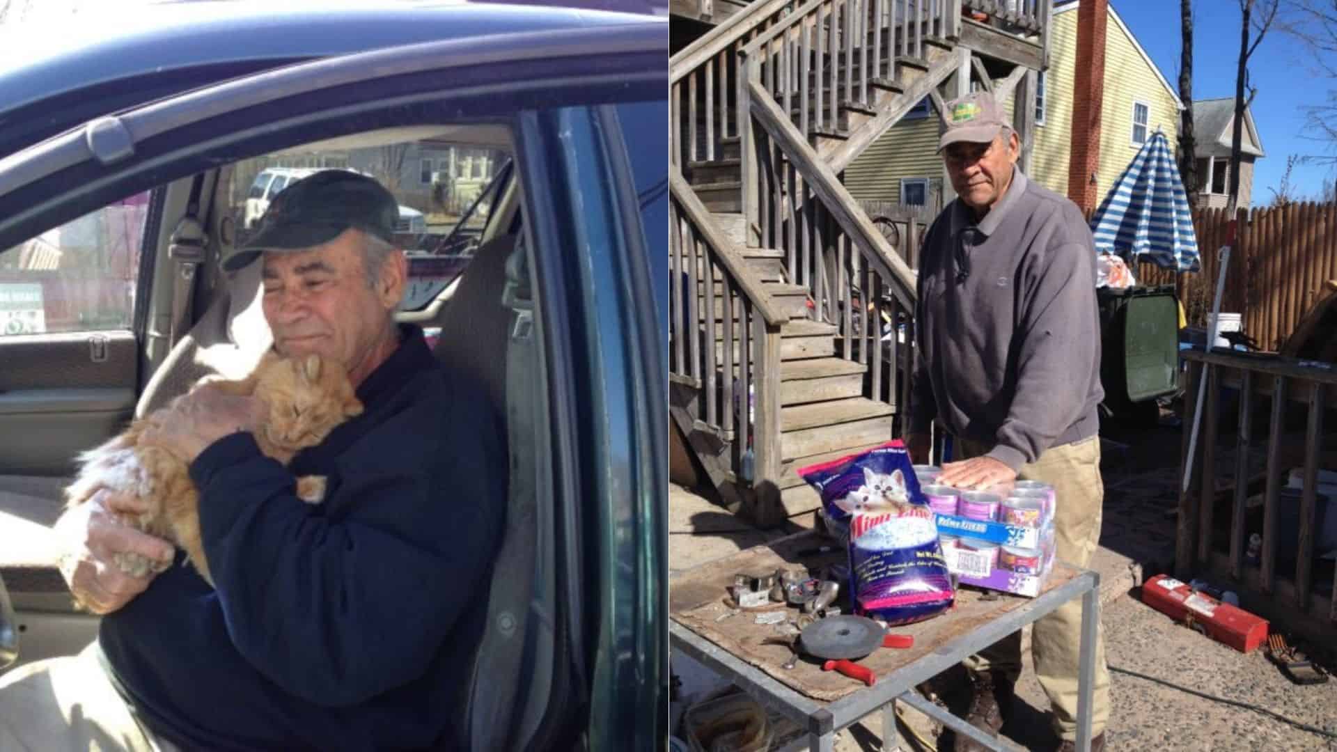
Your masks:
M130 499L68 511L66 579L106 616L79 656L0 677L0 749L461 744L507 452L485 392L394 322L408 272L397 215L370 178L317 173L229 260L262 257L275 351L342 363L364 412L283 467L255 444L251 397L178 399L146 440L190 463L217 591L190 566L154 578L112 563L174 555L116 521ZM295 496L302 475L329 478L321 504Z

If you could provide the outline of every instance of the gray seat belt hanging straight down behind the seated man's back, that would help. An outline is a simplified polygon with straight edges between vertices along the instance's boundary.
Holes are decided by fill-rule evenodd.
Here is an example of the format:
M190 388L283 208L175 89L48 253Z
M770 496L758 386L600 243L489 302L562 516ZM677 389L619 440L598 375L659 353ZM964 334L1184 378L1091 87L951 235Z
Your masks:
M535 409L537 353L533 339L533 300L524 236L505 264L501 305L511 318L505 352L505 423L509 452L505 538L497 553L488 590L488 621L475 660L469 698L469 744L475 749L517 749L523 739L516 715L524 711L520 676L527 660L527 637L536 624L532 614L535 557L539 549L535 486ZM485 661L485 666L481 664ZM480 674L487 672L487 677Z

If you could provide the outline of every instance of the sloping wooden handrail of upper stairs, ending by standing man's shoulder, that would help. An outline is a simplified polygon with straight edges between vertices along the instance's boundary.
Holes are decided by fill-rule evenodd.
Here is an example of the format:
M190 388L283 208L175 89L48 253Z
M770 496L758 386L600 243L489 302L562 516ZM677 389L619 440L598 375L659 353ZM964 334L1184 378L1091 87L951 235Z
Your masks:
M858 201L841 185L836 173L817 157L817 153L808 145L770 92L755 80L747 82L747 91L753 115L775 139L777 146L790 163L804 175L841 230L857 241L857 246L872 252L865 254L865 258L880 274L896 281L896 286L900 288L896 292L901 304L913 308L916 300L915 272L888 245L886 238L873 226L873 222L857 209Z

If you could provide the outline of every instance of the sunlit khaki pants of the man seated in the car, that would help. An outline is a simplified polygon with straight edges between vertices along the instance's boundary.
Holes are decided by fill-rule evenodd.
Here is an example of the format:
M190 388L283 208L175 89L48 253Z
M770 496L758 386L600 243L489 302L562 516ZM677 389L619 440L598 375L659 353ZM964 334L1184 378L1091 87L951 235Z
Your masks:
M5 752L179 752L131 712L90 645L0 674Z

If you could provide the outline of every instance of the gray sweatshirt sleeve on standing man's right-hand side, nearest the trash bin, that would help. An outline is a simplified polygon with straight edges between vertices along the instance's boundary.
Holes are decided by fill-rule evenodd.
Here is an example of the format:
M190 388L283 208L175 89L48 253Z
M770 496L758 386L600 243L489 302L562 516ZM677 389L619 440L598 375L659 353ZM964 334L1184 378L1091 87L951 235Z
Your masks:
M1016 393L988 452L1012 470L1035 462L1076 421L1099 368L1095 252L1078 233L1062 236L1027 270Z

